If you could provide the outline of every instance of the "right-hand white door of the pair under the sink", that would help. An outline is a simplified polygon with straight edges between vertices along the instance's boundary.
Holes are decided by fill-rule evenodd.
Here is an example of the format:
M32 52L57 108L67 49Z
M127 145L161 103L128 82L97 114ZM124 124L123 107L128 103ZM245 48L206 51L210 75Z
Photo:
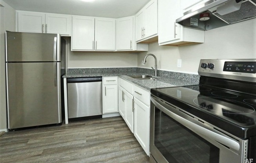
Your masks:
M133 96L124 90L125 122L133 133Z

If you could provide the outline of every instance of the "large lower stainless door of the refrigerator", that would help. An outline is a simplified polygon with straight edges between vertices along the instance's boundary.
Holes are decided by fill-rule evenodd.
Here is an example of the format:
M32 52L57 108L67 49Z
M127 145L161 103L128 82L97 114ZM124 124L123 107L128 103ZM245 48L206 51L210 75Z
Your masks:
M60 62L6 63L8 128L62 122Z

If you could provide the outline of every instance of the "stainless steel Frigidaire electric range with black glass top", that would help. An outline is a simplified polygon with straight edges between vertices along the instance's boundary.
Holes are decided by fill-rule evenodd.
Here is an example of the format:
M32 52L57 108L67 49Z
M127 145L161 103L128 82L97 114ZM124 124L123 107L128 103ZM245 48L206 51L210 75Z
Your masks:
M213 129L235 140L248 140L245 143L246 145L239 146L240 149L244 147L242 152L246 154L239 157L239 159L245 160L238 162L247 161L248 158L255 159L256 162L256 60L201 60L198 74L200 75L198 85L151 89L150 152L154 153L155 145L152 144L158 142L156 137L159 137L159 135L157 135L158 132L155 129L160 130L159 128L163 126L156 125L156 115L161 115L159 116L161 118L158 119L162 120L164 119L162 112L168 115L169 112L170 114L177 112L177 115L184 114L184 119L196 121L196 125ZM156 110L161 107L167 109L166 111L159 109L160 112L158 113ZM194 131L193 127L190 128L189 125L186 126L185 124L187 123L184 123L183 127ZM152 133L152 130L155 130L155 132ZM204 135L203 133L198 135L201 134ZM208 137L206 139L208 140ZM218 140L215 141L219 143ZM211 139L209 142L211 142ZM232 149L228 145L224 145L224 147ZM241 151L238 153L241 154ZM171 154L171 152L168 153L168 155ZM213 162L219 163L225 159L221 156L219 161ZM171 160L177 161L178 159Z

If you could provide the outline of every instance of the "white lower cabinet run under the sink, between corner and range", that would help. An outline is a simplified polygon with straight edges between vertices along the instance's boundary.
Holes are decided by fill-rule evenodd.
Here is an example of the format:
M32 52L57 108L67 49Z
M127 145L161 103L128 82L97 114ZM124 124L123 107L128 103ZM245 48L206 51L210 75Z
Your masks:
M150 92L119 78L119 113L149 156Z

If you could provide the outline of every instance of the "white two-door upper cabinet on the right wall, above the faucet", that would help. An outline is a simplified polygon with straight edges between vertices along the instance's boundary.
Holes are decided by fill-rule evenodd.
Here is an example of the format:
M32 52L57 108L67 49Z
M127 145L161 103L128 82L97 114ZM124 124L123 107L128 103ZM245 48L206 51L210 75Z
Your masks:
M157 0L146 4L135 15L136 41L142 42L157 36Z

